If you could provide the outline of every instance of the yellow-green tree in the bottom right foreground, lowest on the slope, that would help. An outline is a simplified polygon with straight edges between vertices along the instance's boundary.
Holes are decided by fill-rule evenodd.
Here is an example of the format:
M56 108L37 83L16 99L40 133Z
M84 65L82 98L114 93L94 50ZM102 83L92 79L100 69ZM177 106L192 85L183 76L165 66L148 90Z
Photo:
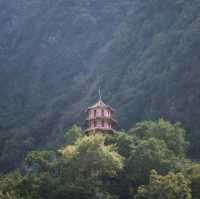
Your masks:
M182 173L166 176L151 171L149 185L138 188L135 199L191 199L190 181Z

